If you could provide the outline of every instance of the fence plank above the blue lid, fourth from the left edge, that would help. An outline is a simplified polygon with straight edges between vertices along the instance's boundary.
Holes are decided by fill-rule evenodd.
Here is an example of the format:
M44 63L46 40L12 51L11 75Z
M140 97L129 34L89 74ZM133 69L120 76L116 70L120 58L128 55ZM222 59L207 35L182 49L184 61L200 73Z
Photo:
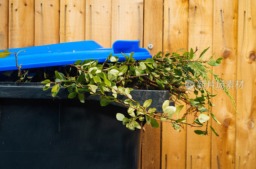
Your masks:
M85 0L60 0L60 42L84 39Z

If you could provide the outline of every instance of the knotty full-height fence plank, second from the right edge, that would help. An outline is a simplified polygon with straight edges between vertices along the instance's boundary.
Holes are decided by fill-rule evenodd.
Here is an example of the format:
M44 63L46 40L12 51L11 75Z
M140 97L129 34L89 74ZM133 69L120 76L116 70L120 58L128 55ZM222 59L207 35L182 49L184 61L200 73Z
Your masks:
M237 1L215 0L213 15L213 51L216 57L223 57L221 65L212 67L220 78L236 81L236 45L237 45ZM235 85L234 85L235 86ZM217 87L217 85L215 85ZM220 89L212 97L212 112L222 125L212 120L212 127L220 135L212 133L212 168L234 169L235 167L235 135L236 112L230 98ZM235 99L236 89L229 92Z

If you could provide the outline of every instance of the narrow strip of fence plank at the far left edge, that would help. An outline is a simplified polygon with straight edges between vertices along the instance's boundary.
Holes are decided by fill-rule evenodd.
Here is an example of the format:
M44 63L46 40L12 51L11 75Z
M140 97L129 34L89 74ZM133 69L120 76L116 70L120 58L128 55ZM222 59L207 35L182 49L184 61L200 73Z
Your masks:
M8 0L0 0L0 50L8 48Z

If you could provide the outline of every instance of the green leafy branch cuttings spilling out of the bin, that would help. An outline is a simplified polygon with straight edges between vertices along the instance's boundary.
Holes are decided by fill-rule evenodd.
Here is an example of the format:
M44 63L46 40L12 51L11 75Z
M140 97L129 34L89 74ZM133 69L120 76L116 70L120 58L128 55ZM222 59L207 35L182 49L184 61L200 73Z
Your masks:
M124 105L127 107L127 114L117 113L116 118L122 121L130 130L141 128L140 121L146 121L152 127L159 127L158 122L169 122L172 123L172 127L177 132L180 132L180 127L183 128L183 125L189 125L191 127L205 127L205 130L195 130L195 133L208 135L210 115L212 119L220 124L210 110L212 106L215 106L210 99L216 95L212 95L202 85L202 81L209 80L209 73L213 74L217 82L220 82L232 104L235 104L225 84L218 75L206 66L206 64L218 66L222 58L213 59L214 55L212 55L209 59L202 60L208 49L205 49L197 59L195 53L198 49L196 48L193 51L191 48L189 52L179 49L165 56L162 56L162 52L158 52L153 58L146 60L134 60L133 53L130 56L123 54L126 58L125 61L118 61L118 57L110 54L103 64L98 63L98 60L95 59L77 60L74 64L61 66L58 69L56 68L55 71L54 69L47 71L44 68L44 71L42 71L44 72L44 81L42 83L45 83L44 90L49 89L51 84L54 84L51 89L53 97L58 94L61 87L64 87L68 89L68 98L77 96L82 103L85 102L84 92L89 92L91 96L100 97L101 106L106 106L111 102ZM179 52L182 53L179 54ZM15 54L19 80L22 78L27 82L29 76L26 76L26 74L32 69L25 71L24 74L21 73L20 66L17 63L18 53L4 51L4 53L0 53L0 57L7 57L10 54ZM37 69L37 71L39 70ZM193 84L193 93L195 94L193 98L189 98L188 82ZM140 105L130 94L133 89L126 87L126 85L146 90L168 90L170 100L166 100L162 105L163 113L156 113L156 108L150 107L151 99ZM106 95L106 92L112 92L112 96ZM126 100L117 99L119 95L125 96ZM153 101L157 102L157 99ZM183 101L189 106L181 119L178 116L184 104L174 107L169 105L170 101L176 101L177 103ZM192 122L187 122L187 115L194 116ZM209 127L213 133L218 135L211 126Z

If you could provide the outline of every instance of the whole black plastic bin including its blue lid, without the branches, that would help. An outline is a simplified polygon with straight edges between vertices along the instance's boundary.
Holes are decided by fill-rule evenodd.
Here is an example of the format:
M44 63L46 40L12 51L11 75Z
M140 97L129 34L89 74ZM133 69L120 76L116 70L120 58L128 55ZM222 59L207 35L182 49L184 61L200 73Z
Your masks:
M116 41L112 48L81 41L8 51L20 50L17 62L22 69L74 64L79 59L104 62L110 53L119 61L126 59L122 53L131 52L135 60L152 58L139 41ZM15 69L13 54L1 58L0 71ZM0 82L0 169L138 169L142 130L131 131L116 119L116 113L128 116L127 108L115 102L102 107L99 96L89 93L80 103L68 100L68 94L60 88L53 98L51 89L43 91L41 83ZM169 91L135 89L130 94L141 105L152 99L150 107L158 113L169 99Z

